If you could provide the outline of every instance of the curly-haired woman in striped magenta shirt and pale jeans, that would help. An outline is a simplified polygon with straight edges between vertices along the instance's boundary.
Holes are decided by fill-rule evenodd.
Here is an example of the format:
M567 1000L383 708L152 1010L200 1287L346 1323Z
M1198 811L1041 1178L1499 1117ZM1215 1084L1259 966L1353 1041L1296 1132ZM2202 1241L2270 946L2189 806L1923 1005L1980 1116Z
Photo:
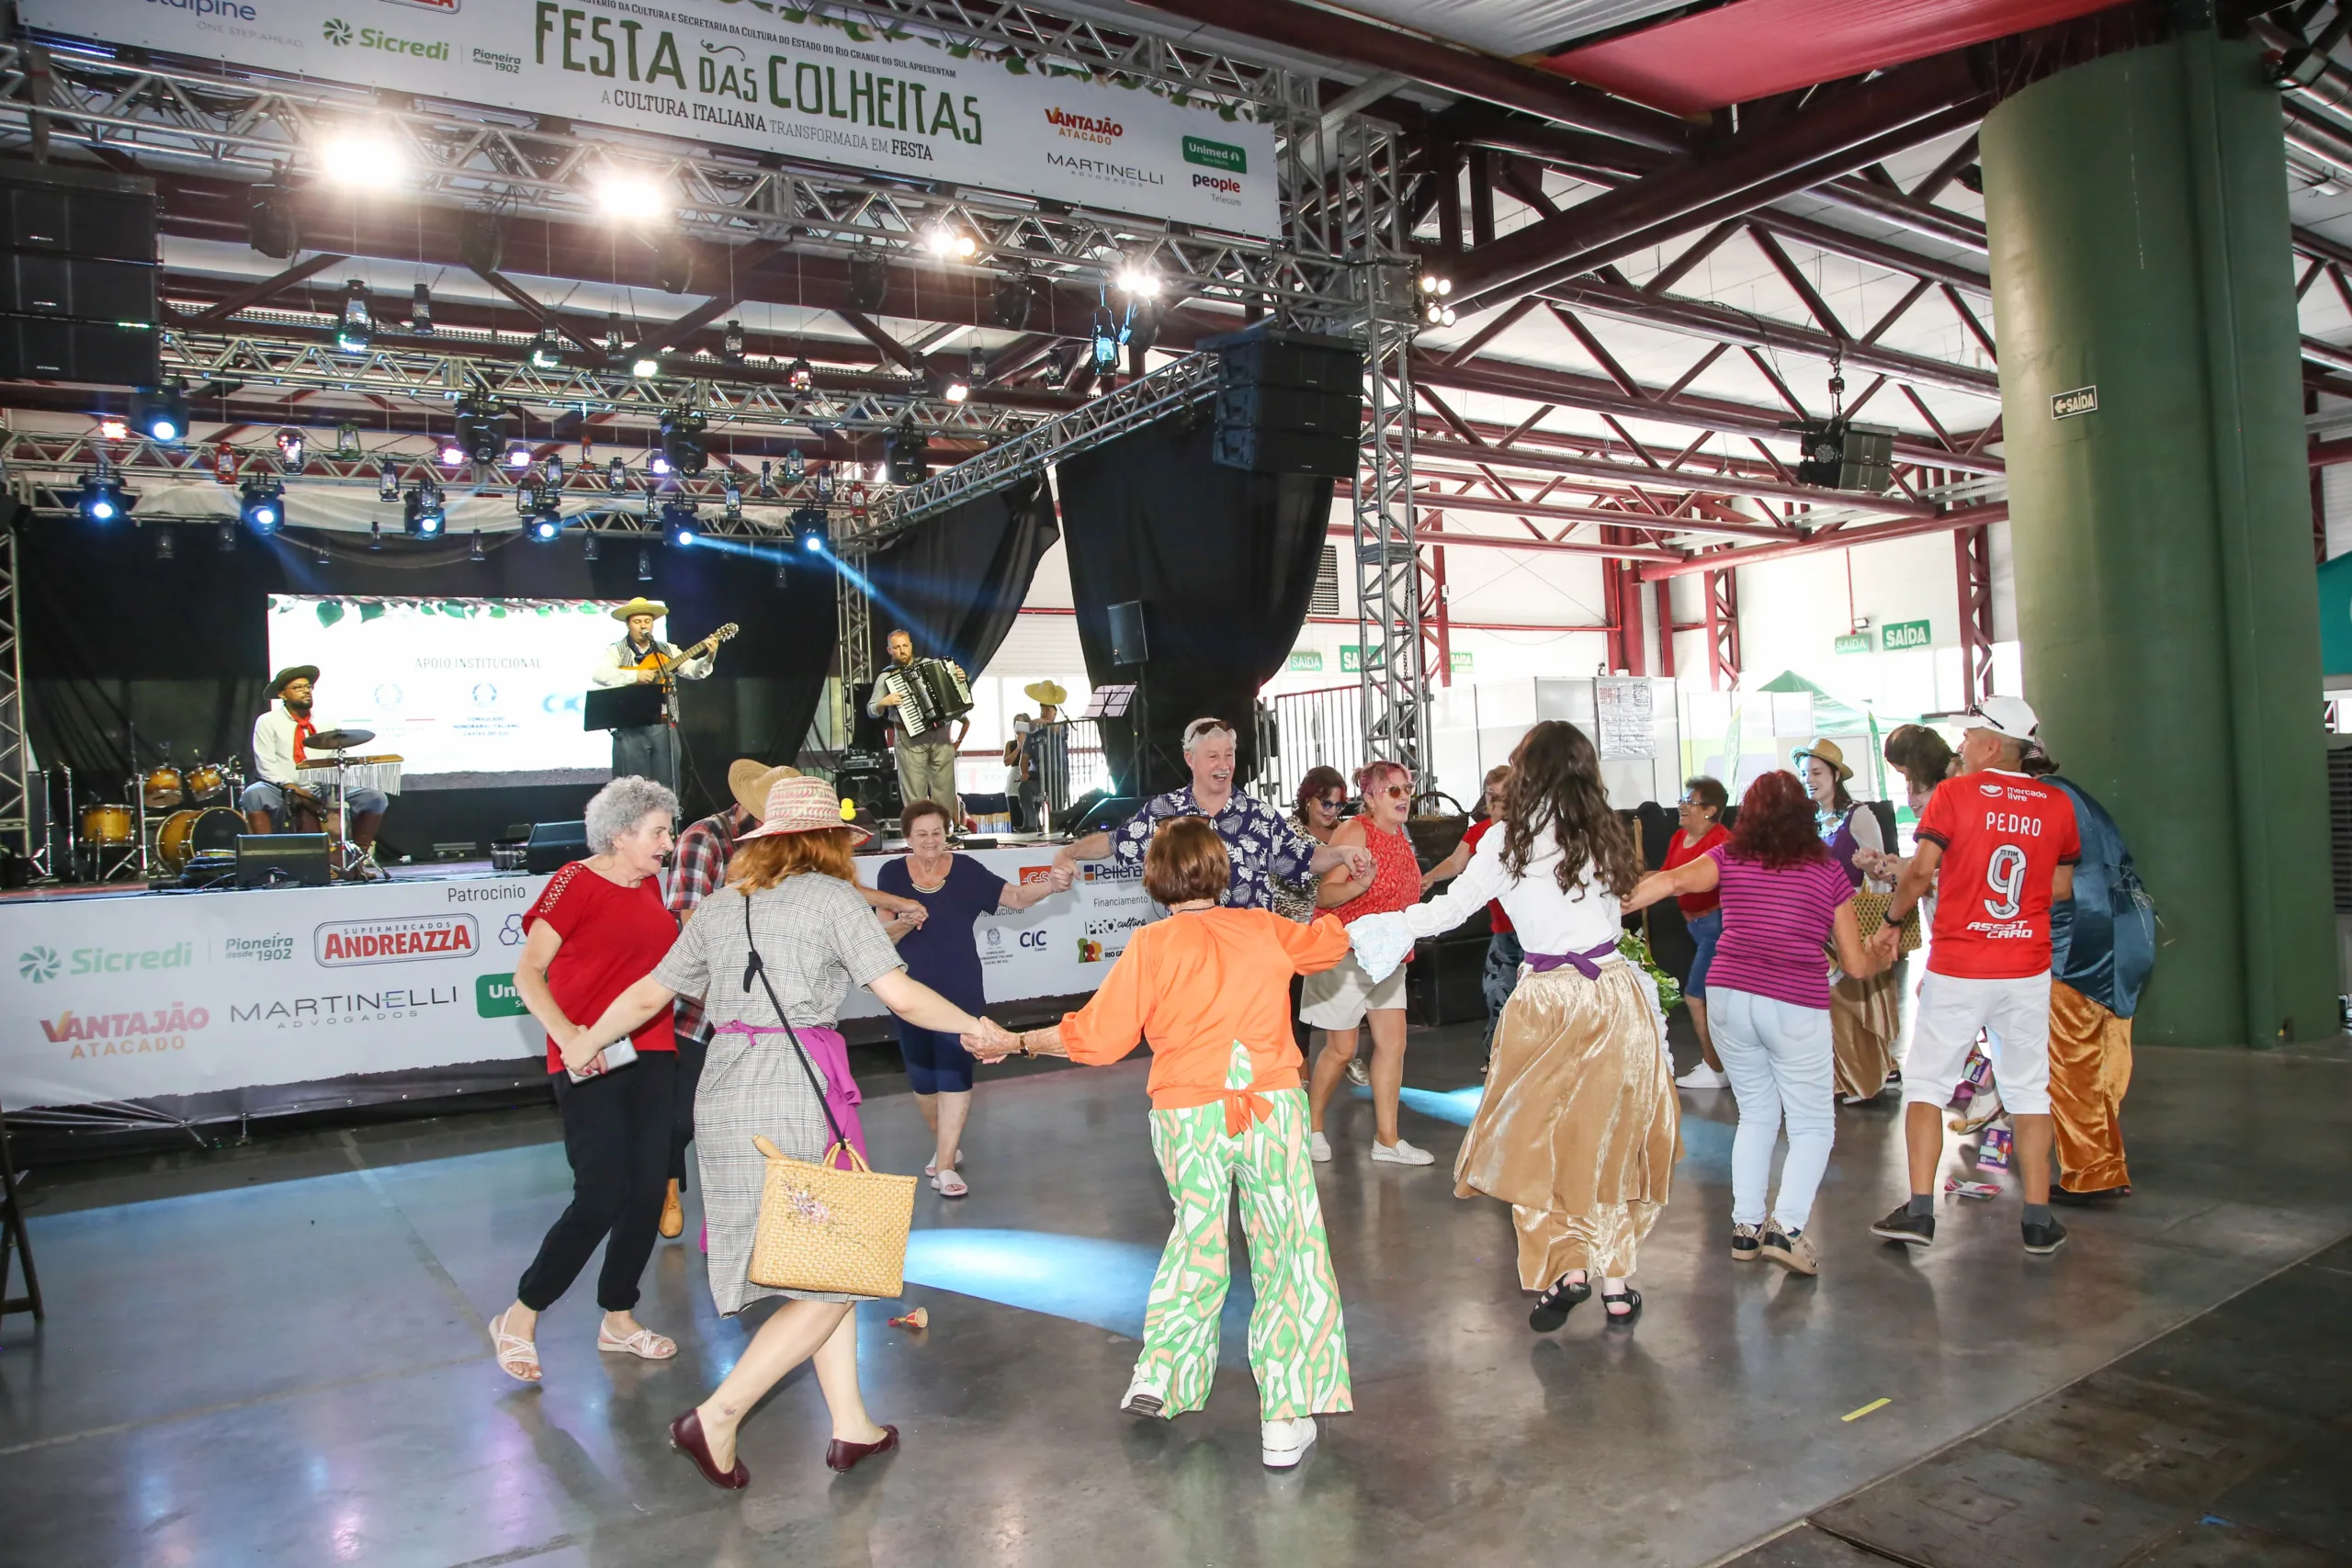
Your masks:
M1804 1225L1837 1135L1830 980L1820 952L1853 978L1884 969L1853 922L1853 884L1813 832L1813 802L1795 773L1764 773L1740 799L1729 844L1651 872L1625 912L1677 893L1722 893L1724 936L1708 969L1708 1023L1731 1077L1740 1126L1731 1138L1731 1258L1766 1258L1818 1274ZM1788 1117L1780 1199L1766 1206L1771 1150Z

